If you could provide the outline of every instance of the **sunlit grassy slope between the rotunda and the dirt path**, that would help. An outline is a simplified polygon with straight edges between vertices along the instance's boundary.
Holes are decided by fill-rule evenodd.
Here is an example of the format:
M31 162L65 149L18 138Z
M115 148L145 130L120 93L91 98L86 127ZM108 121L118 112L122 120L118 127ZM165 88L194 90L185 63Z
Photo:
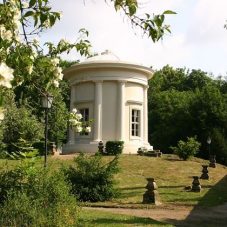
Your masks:
M107 162L113 157L105 156ZM12 168L20 161L0 160L3 168ZM159 187L158 191L163 204L175 205L202 205L214 206L227 202L227 167L217 165L209 168L210 180L200 180L202 192L187 192L185 186L192 183L192 176L201 175L202 164L207 160L193 158L181 161L174 155L163 155L161 158L144 157L137 155L121 155L120 173L115 177L116 187L119 188L118 198L89 205L122 206L122 207L147 207L142 204L143 193L147 184L146 178L153 177ZM38 165L43 165L43 160L38 160ZM48 157L48 167L56 170L62 165L70 165L73 160L56 160Z

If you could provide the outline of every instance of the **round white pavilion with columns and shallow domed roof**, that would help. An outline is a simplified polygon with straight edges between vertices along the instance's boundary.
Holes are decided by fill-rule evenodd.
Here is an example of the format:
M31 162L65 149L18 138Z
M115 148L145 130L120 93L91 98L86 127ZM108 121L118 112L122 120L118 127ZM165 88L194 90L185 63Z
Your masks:
M121 61L110 51L64 70L71 86L70 109L93 119L91 132L70 129L62 153L97 152L98 143L124 141L123 153L136 153L148 143L147 89L150 68Z

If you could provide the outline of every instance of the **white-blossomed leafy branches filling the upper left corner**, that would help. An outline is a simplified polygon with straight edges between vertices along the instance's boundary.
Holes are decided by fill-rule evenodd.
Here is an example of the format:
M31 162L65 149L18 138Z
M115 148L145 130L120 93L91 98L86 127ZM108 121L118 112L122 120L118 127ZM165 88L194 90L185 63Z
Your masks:
M76 43L60 40L57 45L47 42L47 51L38 38L54 26L61 14L53 12L47 0L4 0L0 3L0 86L15 88L23 83L35 86L40 94L52 92L63 78L59 57L76 49L88 55L88 32L80 30Z

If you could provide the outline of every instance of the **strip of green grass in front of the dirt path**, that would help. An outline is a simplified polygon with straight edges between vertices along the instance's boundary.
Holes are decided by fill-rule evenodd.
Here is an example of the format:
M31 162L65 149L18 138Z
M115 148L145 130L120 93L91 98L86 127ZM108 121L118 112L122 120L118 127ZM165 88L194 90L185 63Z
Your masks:
M103 226L103 227L121 227L121 226L152 226L152 227L171 227L170 224L164 224L151 218L140 218L129 215L111 214L109 212L83 210L80 217L81 226Z

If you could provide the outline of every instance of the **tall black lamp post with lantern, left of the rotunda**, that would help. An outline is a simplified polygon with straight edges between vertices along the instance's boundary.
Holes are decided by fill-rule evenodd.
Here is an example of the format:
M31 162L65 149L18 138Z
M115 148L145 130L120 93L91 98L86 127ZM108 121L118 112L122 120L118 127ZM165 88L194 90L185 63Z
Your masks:
M47 134L48 134L48 110L51 108L53 102L53 96L50 94L42 95L42 107L45 110L45 156L44 156L44 167L47 166Z

